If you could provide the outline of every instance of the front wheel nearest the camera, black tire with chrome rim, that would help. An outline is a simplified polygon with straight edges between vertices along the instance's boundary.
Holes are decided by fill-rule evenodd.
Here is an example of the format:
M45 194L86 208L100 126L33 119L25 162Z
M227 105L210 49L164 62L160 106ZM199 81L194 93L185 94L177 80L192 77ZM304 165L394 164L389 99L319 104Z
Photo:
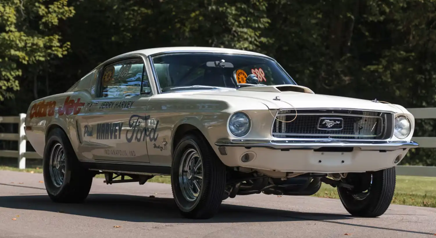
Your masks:
M213 217L222 202L225 178L225 165L201 134L187 134L180 140L173 155L171 188L184 217Z

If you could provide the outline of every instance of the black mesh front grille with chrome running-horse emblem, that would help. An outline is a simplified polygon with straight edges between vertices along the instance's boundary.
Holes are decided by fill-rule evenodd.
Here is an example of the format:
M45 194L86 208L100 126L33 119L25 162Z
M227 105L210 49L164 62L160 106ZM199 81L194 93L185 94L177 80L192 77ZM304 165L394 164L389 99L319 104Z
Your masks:
M272 125L276 138L383 140L392 135L393 114L358 110L281 110ZM293 120L293 121L292 121Z

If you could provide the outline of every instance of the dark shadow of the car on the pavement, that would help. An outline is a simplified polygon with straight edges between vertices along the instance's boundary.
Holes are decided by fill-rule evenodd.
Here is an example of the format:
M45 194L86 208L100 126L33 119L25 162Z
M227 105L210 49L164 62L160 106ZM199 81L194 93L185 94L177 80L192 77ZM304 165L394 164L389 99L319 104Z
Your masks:
M150 198L126 194L89 194L82 204L54 203L45 194L4 196L0 197L0 207L52 211L120 221L160 223L318 221L351 218L350 215L343 214L302 213L222 204L214 218L191 220L180 215L173 198Z

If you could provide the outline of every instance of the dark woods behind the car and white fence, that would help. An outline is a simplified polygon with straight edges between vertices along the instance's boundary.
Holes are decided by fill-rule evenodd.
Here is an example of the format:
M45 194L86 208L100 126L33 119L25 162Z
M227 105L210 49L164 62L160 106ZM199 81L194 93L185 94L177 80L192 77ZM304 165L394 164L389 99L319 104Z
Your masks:
M257 51L317 94L436 107L435 3L0 0L0 116L64 92L109 57L166 46ZM416 136L435 136L435 120L416 122ZM434 154L418 148L402 164L436 165Z

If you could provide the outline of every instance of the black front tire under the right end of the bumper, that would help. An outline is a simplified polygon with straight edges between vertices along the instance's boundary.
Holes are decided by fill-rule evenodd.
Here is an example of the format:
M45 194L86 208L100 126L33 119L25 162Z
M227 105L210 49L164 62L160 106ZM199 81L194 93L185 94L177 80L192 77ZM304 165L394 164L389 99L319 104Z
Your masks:
M394 197L396 172L395 167L375 172L349 174L347 183L367 191L353 191L337 188L339 198L345 209L354 216L375 218L388 210ZM370 177L368 177L370 176ZM361 190L363 190L361 189Z

